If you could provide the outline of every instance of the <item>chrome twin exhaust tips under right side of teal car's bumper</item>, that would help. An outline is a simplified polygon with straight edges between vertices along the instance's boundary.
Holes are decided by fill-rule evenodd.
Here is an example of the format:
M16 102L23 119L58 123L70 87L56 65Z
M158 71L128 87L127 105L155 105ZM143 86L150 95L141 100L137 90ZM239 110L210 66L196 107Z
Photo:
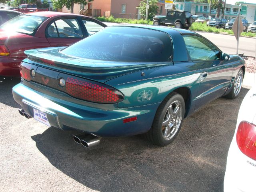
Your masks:
M88 135L86 133L80 133L80 134L74 135L73 139L78 144L82 144L82 146L86 148L90 148L98 145L100 143L101 137Z

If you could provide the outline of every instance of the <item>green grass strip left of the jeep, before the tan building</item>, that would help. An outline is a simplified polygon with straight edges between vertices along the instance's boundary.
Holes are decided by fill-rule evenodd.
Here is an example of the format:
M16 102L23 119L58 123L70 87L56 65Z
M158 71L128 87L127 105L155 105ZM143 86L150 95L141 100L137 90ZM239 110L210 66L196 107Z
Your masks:
M102 22L113 22L113 23L130 23L130 24L148 24L152 25L153 21L150 20L137 20L137 19L126 19L126 18L114 18L112 15L110 17L96 17L96 19Z

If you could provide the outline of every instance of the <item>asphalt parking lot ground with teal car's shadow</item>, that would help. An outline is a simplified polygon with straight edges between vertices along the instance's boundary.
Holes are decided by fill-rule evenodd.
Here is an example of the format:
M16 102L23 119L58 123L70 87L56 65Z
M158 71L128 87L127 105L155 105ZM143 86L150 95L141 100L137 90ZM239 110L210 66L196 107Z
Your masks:
M12 98L18 82L0 82L1 191L222 191L247 89L235 100L219 98L186 118L166 147L132 136L102 138L87 149L73 141L76 131L21 116Z

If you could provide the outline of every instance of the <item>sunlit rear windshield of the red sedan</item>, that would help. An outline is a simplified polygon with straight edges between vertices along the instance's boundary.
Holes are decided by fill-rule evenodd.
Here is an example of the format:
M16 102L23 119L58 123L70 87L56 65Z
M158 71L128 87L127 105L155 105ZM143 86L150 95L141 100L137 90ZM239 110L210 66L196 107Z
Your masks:
M16 31L24 34L33 34L46 19L47 17L22 14L2 24L0 29L10 32Z

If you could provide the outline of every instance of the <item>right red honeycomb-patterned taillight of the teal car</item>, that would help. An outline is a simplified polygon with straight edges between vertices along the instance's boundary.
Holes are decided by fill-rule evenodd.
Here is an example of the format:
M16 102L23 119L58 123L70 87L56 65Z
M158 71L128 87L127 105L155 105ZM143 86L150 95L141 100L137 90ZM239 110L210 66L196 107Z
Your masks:
M71 76L64 79L66 93L75 98L106 104L118 103L124 99L122 93L108 85Z

